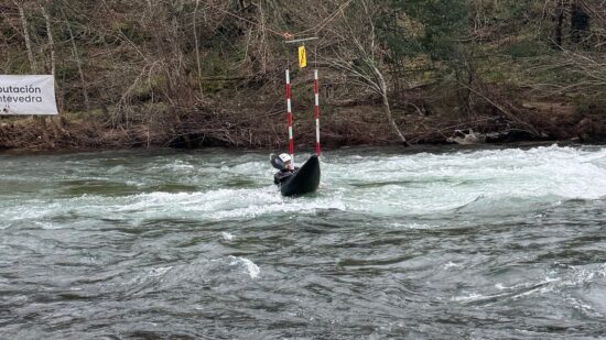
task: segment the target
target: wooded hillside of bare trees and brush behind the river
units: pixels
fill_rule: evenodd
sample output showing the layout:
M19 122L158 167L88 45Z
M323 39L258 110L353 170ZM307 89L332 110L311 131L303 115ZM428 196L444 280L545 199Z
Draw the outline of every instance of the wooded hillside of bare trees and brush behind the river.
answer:
M329 144L606 135L598 0L7 0L0 74L53 73L61 117L0 147ZM310 67L299 69L306 42Z

